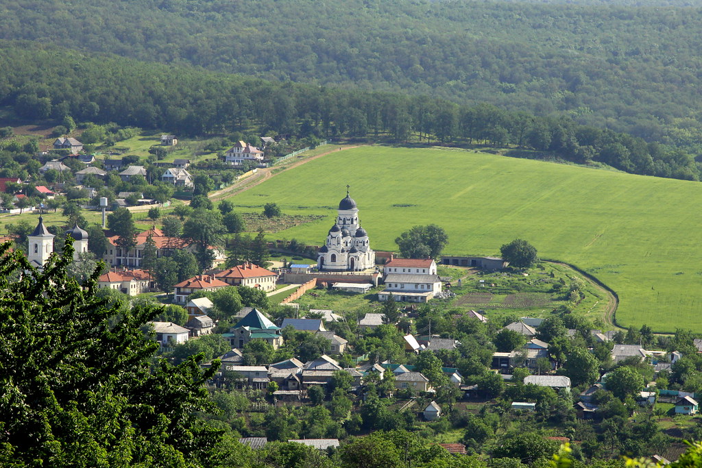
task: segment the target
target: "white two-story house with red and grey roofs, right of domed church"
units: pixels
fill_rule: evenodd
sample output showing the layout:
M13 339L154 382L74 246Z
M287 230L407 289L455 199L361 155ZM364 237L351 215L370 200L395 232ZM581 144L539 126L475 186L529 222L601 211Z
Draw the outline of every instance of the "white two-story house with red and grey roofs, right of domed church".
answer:
M431 258L397 258L384 267L385 290L378 300L385 301L392 294L397 301L428 302L442 291L437 264Z

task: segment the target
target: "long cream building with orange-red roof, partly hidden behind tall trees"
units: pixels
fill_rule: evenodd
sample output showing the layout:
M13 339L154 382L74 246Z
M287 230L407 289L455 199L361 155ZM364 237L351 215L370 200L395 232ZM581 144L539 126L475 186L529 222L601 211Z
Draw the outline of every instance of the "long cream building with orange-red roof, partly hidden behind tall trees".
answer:
M175 250L187 250L190 253L194 253L195 246L180 237L168 237L164 235L161 229L152 228L148 231L141 232L136 235L136 246L129 250L125 250L117 245L117 239L119 236L109 236L107 240L110 241L110 247L107 248L107 253L103 255L105 262L108 262L112 267L132 267L138 268L141 266L141 259L143 258L144 248L146 246L146 241L149 236L154 241L157 248L157 257L168 257ZM213 265L222 265L226 260L226 255L222 250L218 248L210 247L214 253Z

